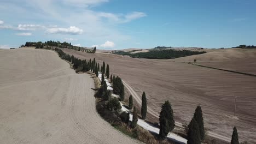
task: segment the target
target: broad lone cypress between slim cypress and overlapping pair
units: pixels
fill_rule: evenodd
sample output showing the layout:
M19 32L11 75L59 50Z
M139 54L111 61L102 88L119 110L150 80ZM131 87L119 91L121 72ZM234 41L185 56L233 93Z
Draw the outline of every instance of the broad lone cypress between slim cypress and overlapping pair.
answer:
M172 131L175 127L173 119L173 110L170 102L167 100L161 106L161 112L159 115L160 130L159 136L165 139L169 131Z

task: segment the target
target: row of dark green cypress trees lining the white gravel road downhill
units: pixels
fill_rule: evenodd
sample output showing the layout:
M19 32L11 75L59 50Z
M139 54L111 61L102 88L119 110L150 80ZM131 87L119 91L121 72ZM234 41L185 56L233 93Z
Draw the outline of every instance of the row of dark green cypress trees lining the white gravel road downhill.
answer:
M91 70L98 77L100 64L96 63L95 58L93 61L91 61L90 59L90 61L87 62L86 60L81 60L81 59L75 58L74 56L68 55L67 53L63 52L59 48L55 48L54 50L57 53L59 53L62 59L66 59L67 61L71 62L73 64L73 68L77 72ZM107 90L107 83L104 80L104 74L106 74L106 77L109 79L109 65L107 64L107 68L105 69L105 62L103 62L102 64L101 73L102 73L101 88L98 90L98 93L100 93L100 95L102 95L102 97L105 100L108 100L110 92ZM119 76L115 77L110 75L110 82L113 82L113 92L115 94L119 94L120 100L123 101L124 85L120 77ZM132 109L132 107L133 107L133 99L132 99L132 95L130 95L129 109ZM143 92L142 94L141 116L142 116L142 119L145 119L147 116L147 99L146 99L145 92ZM133 118L132 118L131 127L135 128L137 125L137 122L138 122L137 109L136 107L133 107ZM165 139L168 133L172 131L175 127L172 106L168 100L165 101L165 103L162 104L161 106L159 123L160 123L159 136L161 139ZM199 144L205 139L205 128L203 124L201 106L196 107L194 116L188 125L187 139L188 139L188 142L187 142L188 144ZM232 133L231 144L239 144L236 127L234 127L234 130Z

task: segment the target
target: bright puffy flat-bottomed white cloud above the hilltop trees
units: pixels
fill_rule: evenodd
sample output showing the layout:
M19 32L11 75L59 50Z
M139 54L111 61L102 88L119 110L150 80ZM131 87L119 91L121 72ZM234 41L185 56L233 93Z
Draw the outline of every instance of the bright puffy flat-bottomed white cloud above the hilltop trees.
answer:
M46 33L59 33L59 34L82 34L83 29L80 29L75 26L71 26L69 28L49 28Z

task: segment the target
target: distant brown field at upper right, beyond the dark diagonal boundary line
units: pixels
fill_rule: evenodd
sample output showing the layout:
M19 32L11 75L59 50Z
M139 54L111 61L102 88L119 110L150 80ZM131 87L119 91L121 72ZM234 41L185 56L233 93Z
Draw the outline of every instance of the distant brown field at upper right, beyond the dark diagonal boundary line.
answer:
M207 53L176 58L173 61L193 62L197 59L196 63L208 67L256 74L256 49L204 49L200 51L207 51Z

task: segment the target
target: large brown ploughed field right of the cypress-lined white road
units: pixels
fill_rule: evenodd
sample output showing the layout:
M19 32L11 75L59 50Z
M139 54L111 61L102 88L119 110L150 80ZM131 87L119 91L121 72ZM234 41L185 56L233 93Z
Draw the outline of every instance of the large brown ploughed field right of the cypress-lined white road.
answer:
M256 142L256 77L203 68L183 63L184 59L138 59L63 51L82 59L95 57L97 62L105 61L110 73L120 76L130 91L140 97L145 91L150 121L158 122L160 106L165 100L170 100L176 121L182 123L189 123L196 106L201 105L207 130L231 138L232 128L236 126L241 141ZM181 62L173 62L178 60ZM236 117L234 96L238 96Z

